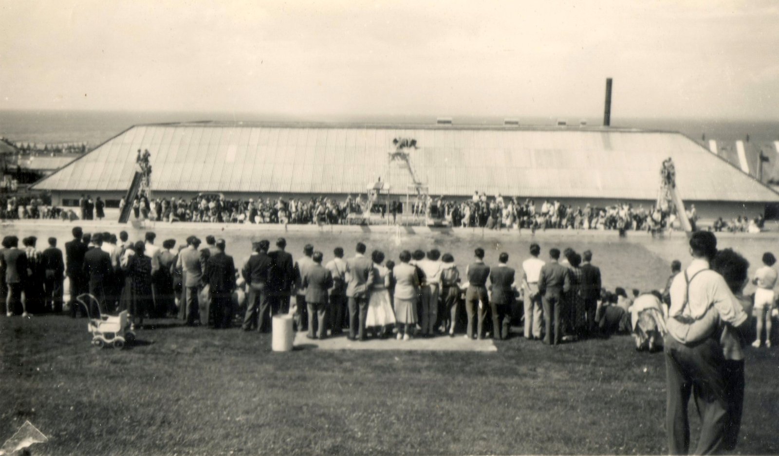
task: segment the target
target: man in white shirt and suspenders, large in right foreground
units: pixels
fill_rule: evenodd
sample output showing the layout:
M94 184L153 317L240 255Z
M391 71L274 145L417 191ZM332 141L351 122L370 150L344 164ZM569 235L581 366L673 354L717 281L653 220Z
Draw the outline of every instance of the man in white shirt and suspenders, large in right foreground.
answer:
M689 239L693 261L671 284L664 338L667 379L665 430L668 452L689 451L690 395L700 416L700 436L695 454L717 454L724 449L728 422L724 354L717 322L741 331L747 320L741 303L721 275L710 270L717 254L717 237L696 231Z

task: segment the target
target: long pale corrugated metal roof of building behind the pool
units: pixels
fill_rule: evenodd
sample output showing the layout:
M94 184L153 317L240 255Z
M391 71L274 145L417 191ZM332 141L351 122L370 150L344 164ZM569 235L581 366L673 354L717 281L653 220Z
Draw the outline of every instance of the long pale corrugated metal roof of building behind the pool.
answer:
M434 195L654 199L671 156L683 198L779 201L678 133L502 126L139 125L33 188L125 191L149 149L153 191L345 194L382 177L403 195L411 178L389 160L398 137L416 139L411 161Z

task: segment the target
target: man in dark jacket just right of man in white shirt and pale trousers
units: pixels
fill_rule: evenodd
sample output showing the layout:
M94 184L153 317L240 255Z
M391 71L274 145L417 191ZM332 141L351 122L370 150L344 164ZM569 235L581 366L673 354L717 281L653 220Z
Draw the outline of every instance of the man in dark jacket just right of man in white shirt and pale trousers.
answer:
M562 296L568 293L571 288L568 268L560 265L557 261L560 259L559 249L553 248L549 251L552 260L541 268L541 275L538 277L538 293L541 293L541 300L544 303L544 320L546 321L546 334L544 343L547 345L557 345L560 343L560 307L562 305ZM552 335L552 321L554 320L554 335Z

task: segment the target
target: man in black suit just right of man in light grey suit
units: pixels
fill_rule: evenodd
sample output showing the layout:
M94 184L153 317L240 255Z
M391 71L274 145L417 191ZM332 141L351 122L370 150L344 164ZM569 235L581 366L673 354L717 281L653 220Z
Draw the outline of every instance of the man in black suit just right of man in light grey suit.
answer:
M231 317L231 295L235 289L235 263L224 253L224 239L217 240L217 253L210 255L203 274L210 287L213 307L213 328L229 328Z

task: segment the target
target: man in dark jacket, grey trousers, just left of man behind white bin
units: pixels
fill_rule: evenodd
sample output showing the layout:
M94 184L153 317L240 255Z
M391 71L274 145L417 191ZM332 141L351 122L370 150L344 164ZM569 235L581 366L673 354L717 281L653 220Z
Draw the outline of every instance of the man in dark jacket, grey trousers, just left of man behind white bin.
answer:
M246 281L249 298L246 301L246 314L243 330L251 331L257 328L260 332L270 331L270 307L268 305L268 275L270 274L270 242L260 240L252 242L254 250L246 260L241 274Z

